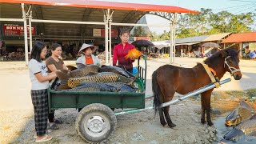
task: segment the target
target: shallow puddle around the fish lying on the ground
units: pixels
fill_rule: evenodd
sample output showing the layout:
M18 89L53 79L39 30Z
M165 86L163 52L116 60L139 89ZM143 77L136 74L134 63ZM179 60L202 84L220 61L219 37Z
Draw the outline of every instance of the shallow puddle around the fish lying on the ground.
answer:
M227 113L229 114L229 113ZM227 115L226 114L226 115ZM232 127L226 127L225 126L225 119L226 117L218 117L214 120L214 126L217 128L217 136L218 136L218 142L223 138L223 136L232 130ZM229 142L228 144L256 144L256 137L250 139L243 140L242 142Z

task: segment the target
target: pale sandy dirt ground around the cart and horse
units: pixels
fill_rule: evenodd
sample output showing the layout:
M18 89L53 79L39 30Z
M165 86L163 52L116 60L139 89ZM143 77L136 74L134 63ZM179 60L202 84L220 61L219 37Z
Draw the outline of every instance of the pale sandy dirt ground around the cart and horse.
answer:
M151 92L151 74L159 66L169 62L169 59L148 61L146 94ZM192 67L201 58L175 58L180 66ZM67 65L74 61L66 62ZM34 142L33 106L30 98L30 79L24 62L0 62L0 143ZM242 60L241 81L234 81L223 85L218 90L246 90L255 88L256 62ZM225 78L230 78L226 74ZM217 90L217 91L218 91ZM146 102L152 106L152 100ZM180 102L170 108L170 117L177 125L176 129L162 127L158 114L154 118L153 110L146 110L136 114L118 115L118 125L115 134L107 143L212 143L216 140L216 129L200 123L201 106L198 101L190 99ZM60 130L50 131L54 136L51 143L83 143L74 130L77 110L56 110L58 118L64 124Z

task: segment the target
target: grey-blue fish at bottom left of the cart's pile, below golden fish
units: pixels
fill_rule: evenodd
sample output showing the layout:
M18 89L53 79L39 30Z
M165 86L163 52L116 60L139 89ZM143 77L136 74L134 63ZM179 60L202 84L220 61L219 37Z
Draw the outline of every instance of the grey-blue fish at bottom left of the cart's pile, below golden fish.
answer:
M118 92L120 89L114 86L108 86L102 82L82 82L79 86L73 89L63 91L111 91Z

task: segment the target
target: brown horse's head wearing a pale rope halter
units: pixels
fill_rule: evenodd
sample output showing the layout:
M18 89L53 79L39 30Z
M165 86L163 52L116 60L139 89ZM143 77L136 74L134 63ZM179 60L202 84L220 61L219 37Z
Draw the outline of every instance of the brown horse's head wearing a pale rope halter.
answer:
M224 69L234 77L235 80L242 78L242 73L239 68L239 52L240 50L224 49L221 50L222 57L224 58Z

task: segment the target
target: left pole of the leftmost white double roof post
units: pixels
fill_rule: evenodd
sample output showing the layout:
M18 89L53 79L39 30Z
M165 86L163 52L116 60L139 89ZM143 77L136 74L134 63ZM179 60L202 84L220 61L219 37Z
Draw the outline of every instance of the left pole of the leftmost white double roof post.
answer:
M24 21L24 42L25 42L25 61L26 61L26 66L29 64L29 55L28 55L28 46L27 46L27 27L26 27L26 12L24 8L24 3L21 4L22 6L22 18Z

